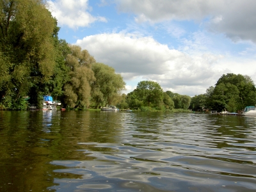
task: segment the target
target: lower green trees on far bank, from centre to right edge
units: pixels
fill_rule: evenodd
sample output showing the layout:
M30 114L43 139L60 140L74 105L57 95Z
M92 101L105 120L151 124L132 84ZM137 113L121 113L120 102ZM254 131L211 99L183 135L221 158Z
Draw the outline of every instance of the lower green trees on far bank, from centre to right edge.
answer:
M249 76L223 74L215 86L210 86L205 94L195 95L195 97L170 91L163 92L158 83L141 81L133 92L122 96L120 107L142 111L191 109L237 112L255 104L256 88Z

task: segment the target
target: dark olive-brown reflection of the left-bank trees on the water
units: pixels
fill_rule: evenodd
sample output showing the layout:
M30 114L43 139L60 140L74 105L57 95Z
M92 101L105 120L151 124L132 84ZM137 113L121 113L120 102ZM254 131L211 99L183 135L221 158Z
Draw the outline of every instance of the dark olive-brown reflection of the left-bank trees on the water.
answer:
M49 162L95 158L85 156L79 150L86 147L77 145L79 142L93 142L97 140L95 136L100 137L92 133L93 129L90 128L94 122L90 120L93 118L90 112L4 111L2 115L0 163L3 166L0 166L0 186L6 187L4 191L42 191L54 186L56 178L80 178L81 175L71 173L63 173L62 176L54 173L63 166ZM99 119L95 122L99 122ZM111 131L107 132L110 134Z

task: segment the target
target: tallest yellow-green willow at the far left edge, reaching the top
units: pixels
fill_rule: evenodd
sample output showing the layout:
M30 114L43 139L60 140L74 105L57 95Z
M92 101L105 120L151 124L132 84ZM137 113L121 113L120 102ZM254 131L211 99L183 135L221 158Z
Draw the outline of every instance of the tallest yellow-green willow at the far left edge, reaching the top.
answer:
M3 0L0 9L0 103L14 104L52 76L56 20L41 0Z

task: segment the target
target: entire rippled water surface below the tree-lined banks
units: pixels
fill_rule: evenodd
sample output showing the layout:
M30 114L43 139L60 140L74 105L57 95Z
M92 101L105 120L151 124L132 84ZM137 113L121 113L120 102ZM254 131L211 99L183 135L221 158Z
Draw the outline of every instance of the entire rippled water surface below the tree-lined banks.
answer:
M0 191L256 191L256 118L0 111Z

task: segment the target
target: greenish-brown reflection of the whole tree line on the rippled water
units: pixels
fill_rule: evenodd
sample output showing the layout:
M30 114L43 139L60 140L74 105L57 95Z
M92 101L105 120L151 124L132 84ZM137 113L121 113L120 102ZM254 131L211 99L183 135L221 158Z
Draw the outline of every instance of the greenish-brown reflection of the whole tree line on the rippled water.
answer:
M193 160L200 156L252 165L255 124L255 118L190 113L0 111L0 186L6 187L4 191L46 191L56 185L55 179L83 176L58 172L63 166L51 164L54 160L65 165L66 161L98 158L91 162L101 164L102 159L95 154L111 157L127 152L131 156L129 150L137 154L138 148L146 150L138 152L141 156L132 157L132 161L152 162L154 166L160 162L156 150L161 158L174 155ZM245 145L248 142L252 145ZM129 150L120 147L122 143L131 145ZM245 144L236 145L240 143ZM145 168L141 173L151 173L147 171Z

